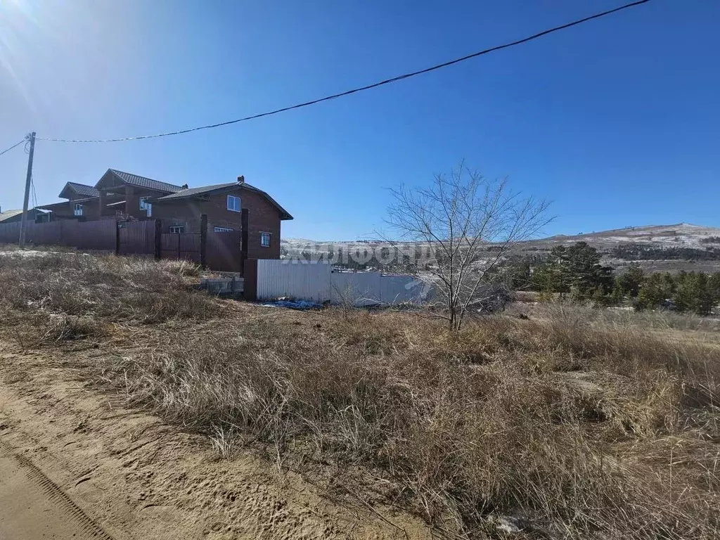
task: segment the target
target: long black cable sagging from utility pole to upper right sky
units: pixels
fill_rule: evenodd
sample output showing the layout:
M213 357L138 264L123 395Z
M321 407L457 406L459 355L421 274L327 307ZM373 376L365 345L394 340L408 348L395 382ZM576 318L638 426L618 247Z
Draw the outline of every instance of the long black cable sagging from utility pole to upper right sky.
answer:
M330 99L336 99L338 97L349 96L350 94L356 94L357 92L377 88L378 86L384 86L385 84L391 84L391 83L395 83L397 81L402 81L405 78L422 75L423 73L430 73L431 71L435 71L435 70L441 69L441 68L446 68L447 66L452 66L453 64L464 62L465 60L470 60L471 58L476 58L477 56L482 56L482 55L486 55L488 53L494 53L495 51L498 51L498 50L507 49L510 47L514 47L516 45L521 45L522 43L536 40L539 37L543 37L548 34L552 34L553 32L558 32L559 30L565 30L567 28L577 26L577 24L582 24L584 22L588 22L593 19L600 19L600 17L606 17L613 13L621 12L624 9L629 9L631 7L639 6L641 4L647 4L647 2L649 2L649 1L650 0L634 1L634 2L631 2L630 4L625 4L624 6L619 6L614 9L609 9L606 12L601 12L601 13L597 13L594 15L590 15L590 17L585 17L584 19L578 19L573 22L568 22L567 24L562 24L561 26L550 28L549 30L544 30L543 32L538 32L537 34L534 34L534 35L531 35L528 37L523 37L523 39L521 39L521 40L508 42L503 45L496 45L495 47L485 49L485 50L480 50L477 53L472 53L467 56L463 56L462 58L456 58L455 60L449 60L448 62L437 64L436 66L432 66L430 68L421 69L420 71L412 71L410 73L405 73L404 75L400 75L397 77L387 78L384 81L379 81L377 83L368 84L367 86L360 86L359 88L347 90L347 91L341 92L340 94L333 94L331 96L325 96L325 97L321 97L319 99L313 99L310 102L299 103L299 104L291 105L289 107L282 107L282 109L274 109L274 110L268 111L268 112L261 112L260 114L253 114L252 116L237 118L235 120L228 120L226 122L218 122L217 124L203 125L203 126L199 126L199 127L190 127L186 130L171 131L171 132L165 132L165 133L156 133L155 135L140 135L138 137L125 137L125 138L119 138L119 139L77 140L77 139L51 139L51 138L42 138L42 137L37 137L37 139L51 140L56 143L119 143L119 142L125 141L125 140L152 139L152 138L158 138L158 137L168 137L169 135L181 135L183 133L189 133L192 131L209 130L213 127L221 127L221 126L230 125L230 124L237 124L238 122L246 122L247 120L256 120L257 118L271 116L272 114L278 114L280 112L286 112L286 111L290 111L292 109L300 109L302 107L308 107L310 105L314 105L314 104L317 104L320 102L328 102L328 101L330 101Z

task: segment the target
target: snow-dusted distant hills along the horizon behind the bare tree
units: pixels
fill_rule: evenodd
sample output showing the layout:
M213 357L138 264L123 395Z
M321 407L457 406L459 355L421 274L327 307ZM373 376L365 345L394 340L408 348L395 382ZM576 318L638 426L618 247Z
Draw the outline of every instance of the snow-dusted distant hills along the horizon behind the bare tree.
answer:
M648 271L720 271L720 228L677 223L675 225L644 225L577 235L556 235L528 240L518 247L518 255L543 258L556 246L572 246L587 242L603 253L603 261L622 269L631 263ZM301 238L284 238L284 253L328 251L334 246L354 251L357 248L387 245L376 240L315 242Z

